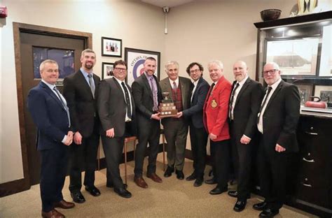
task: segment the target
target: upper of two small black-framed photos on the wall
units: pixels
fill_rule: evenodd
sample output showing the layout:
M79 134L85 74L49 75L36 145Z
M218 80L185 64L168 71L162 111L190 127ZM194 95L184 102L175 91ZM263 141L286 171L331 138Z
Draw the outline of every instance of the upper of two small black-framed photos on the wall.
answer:
M122 57L122 39L102 37L102 56Z

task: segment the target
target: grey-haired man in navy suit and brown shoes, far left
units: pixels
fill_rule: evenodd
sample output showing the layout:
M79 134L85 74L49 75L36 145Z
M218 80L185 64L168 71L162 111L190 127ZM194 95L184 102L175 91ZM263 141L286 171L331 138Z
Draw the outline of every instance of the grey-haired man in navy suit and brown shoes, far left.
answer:
M46 60L39 67L41 82L30 90L27 106L37 126L37 150L41 154L42 217L64 217L54 208L74 208L64 201L62 188L67 173L67 151L72 143L67 102L55 87L59 78L56 61Z

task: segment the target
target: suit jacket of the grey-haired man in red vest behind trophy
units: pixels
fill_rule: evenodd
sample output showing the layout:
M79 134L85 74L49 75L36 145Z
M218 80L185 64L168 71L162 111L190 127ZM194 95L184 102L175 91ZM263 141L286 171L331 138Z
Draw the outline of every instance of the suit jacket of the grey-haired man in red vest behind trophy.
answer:
M191 90L193 90L193 83L188 78L179 76L179 85L181 86L182 108L186 110L191 106ZM162 92L169 92L170 98L173 99L172 85L170 79L167 77L160 81L160 88ZM170 122L172 117L163 118L161 123L163 125Z

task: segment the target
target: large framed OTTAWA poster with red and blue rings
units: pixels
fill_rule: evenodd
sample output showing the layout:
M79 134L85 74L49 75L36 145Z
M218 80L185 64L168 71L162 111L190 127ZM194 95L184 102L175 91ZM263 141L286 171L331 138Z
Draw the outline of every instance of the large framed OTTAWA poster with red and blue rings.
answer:
M127 83L132 85L132 82L144 73L144 61L147 57L153 57L157 61L155 69L155 76L160 80L160 52L153 52L148 50L140 50L136 48L125 48L125 61L127 62Z

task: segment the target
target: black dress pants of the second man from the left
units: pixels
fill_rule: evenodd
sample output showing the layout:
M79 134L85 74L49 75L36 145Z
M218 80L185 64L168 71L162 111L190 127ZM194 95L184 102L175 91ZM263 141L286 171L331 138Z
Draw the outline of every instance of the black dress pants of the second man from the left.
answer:
M92 187L95 185L95 170L97 168L97 151L99 145L99 134L92 133L87 138L82 138L82 144L72 143L69 151L69 191L80 191L82 187L82 170L85 170L84 185Z

